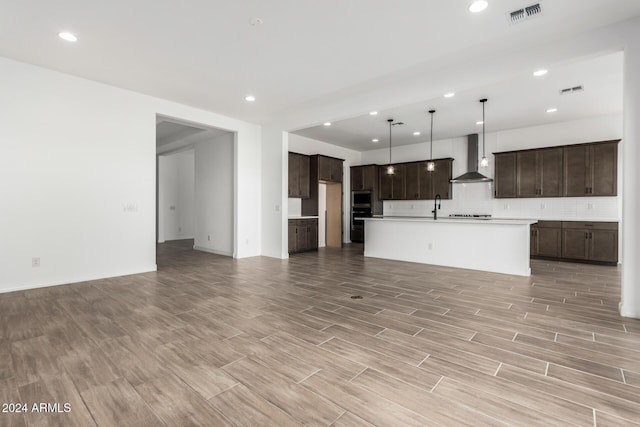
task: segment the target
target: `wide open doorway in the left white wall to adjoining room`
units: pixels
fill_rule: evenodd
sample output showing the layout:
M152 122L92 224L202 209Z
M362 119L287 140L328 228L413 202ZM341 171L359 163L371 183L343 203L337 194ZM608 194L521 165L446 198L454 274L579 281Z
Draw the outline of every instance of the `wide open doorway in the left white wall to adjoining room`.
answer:
M234 145L233 132L156 117L158 245L233 256Z

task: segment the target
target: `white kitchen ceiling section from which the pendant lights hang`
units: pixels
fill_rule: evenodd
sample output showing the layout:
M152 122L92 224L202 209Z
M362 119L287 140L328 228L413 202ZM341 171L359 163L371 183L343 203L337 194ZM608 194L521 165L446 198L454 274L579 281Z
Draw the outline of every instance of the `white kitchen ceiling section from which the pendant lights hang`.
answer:
M405 123L394 126L394 146L429 141L430 116L435 109L433 139L446 139L477 133L482 126L482 105L485 105L486 132L536 126L585 117L622 113L623 54L617 52L571 64L549 66L548 74L534 77L528 70L509 80L491 86L477 87L456 93L453 98L434 99L368 113L357 117L301 129L293 133L325 141L357 151L376 150L389 144L387 119ZM583 91L561 95L564 88L582 85ZM549 114L548 108L558 111ZM420 135L413 135L414 132ZM379 139L377 143L372 139Z

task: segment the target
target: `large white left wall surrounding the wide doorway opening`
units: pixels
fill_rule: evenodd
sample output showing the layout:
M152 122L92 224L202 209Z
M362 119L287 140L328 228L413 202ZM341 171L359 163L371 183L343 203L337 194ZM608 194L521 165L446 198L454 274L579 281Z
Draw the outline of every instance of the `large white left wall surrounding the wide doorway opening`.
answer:
M236 256L260 254L259 126L6 58L0 75L0 291L156 269L156 114L236 132Z

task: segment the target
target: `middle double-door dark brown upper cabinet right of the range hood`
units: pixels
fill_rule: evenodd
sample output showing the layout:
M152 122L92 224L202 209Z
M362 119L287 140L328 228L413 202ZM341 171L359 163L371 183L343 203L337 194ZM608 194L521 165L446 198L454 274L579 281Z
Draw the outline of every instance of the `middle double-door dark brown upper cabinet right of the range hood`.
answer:
M562 147L518 151L517 197L560 197L562 159Z

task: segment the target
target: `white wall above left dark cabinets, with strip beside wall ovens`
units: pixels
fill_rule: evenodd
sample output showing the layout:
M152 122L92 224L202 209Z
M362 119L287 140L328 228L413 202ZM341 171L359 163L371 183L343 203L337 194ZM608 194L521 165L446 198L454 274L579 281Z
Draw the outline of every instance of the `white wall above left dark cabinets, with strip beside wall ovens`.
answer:
M342 236L343 241L348 243L351 241L351 224L350 224L350 211L351 211L351 169L352 165L361 164L361 153L355 150L349 150L348 148L338 147L337 145L327 144L326 142L318 141L304 136L289 134L289 149L300 154L322 154L325 156L336 157L338 159L344 159L342 163L342 227L344 234Z

